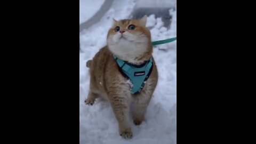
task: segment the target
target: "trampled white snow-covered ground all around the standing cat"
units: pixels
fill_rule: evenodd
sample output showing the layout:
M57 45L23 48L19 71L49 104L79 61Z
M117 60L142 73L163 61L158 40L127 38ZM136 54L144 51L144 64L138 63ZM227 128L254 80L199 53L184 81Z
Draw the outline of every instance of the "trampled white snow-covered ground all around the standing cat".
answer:
M82 1L82 0L81 0ZM90 4L92 7L92 3ZM122 6L120 6L122 5ZM109 103L97 99L93 106L85 105L89 90L89 71L86 61L92 59L98 50L106 45L107 31L113 20L129 18L135 3L132 0L114 1L111 9L94 26L82 31L80 43L80 97L79 130L80 143L176 143L176 41L154 47L159 80L154 97L148 106L146 121L139 126L132 123L133 138L122 139L118 133L117 120ZM89 9L90 10L90 9ZM84 12L85 14L86 12ZM176 36L176 11L171 13L171 29L163 27L161 18L149 15L147 26L153 27L152 41ZM83 17L81 15L80 17ZM89 16L86 16L89 17Z

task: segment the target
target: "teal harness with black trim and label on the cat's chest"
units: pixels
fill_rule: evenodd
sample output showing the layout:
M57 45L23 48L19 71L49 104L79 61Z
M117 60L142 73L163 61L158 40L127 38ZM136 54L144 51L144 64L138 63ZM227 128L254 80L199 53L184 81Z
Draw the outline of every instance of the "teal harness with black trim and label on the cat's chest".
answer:
M132 65L114 57L120 73L132 83L132 94L140 93L153 69L152 57L141 65Z

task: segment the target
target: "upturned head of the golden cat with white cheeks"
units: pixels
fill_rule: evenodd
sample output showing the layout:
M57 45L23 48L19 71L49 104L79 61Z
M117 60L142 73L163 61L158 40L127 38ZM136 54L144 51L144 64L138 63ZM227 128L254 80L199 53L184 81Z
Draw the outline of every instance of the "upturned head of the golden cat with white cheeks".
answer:
M148 60L152 54L150 31L146 28L147 15L141 19L116 21L108 31L107 45L117 57L131 63Z

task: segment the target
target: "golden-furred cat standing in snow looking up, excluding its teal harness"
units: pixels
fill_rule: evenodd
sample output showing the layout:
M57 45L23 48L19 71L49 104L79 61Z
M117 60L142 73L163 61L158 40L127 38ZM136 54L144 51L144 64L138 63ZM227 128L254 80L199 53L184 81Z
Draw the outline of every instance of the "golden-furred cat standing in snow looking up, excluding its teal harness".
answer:
M147 15L141 19L113 19L113 26L107 35L107 45L92 60L86 62L90 69L90 90L85 103L93 105L98 97L107 100L114 111L119 134L123 138L132 138L130 112L135 125L140 125L145 120L144 116L158 81L151 34L146 28L146 21ZM149 63L150 58L151 73L143 88L132 94L132 82L127 81L127 77L122 74L116 59L129 67L136 67L145 65L145 62ZM143 74L145 75L138 73Z

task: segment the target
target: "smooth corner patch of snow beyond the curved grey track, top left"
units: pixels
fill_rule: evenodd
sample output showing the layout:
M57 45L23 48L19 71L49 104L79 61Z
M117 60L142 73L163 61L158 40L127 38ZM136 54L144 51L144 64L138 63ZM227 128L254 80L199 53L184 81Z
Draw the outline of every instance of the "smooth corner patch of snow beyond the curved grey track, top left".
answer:
M79 0L79 23L89 20L104 2L105 0Z

